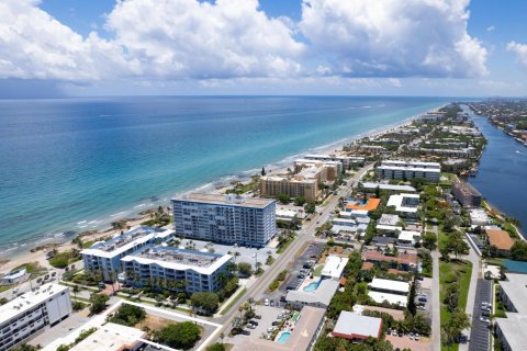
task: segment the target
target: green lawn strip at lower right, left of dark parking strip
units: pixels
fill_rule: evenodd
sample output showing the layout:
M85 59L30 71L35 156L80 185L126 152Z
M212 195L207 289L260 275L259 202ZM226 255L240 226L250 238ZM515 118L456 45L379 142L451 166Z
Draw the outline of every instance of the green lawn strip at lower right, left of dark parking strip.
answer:
M442 304L445 299L445 294L447 291L447 285L457 281L456 273L459 272L459 288L460 288L460 299L458 307L461 310L464 310L467 307L467 298L469 294L470 286L470 276L472 274L472 263L469 261L460 262L439 262L439 284L440 292L439 298L441 302L441 325L446 324L450 318L450 312ZM450 347L450 351L458 350L459 344L453 344ZM448 351L448 348L441 344L441 350Z

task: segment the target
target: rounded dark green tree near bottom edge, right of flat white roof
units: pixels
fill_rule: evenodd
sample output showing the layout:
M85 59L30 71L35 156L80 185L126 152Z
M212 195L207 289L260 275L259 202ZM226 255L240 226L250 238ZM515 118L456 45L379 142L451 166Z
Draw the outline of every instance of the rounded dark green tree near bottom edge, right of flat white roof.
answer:
M192 321L171 324L155 333L158 342L175 349L190 349L200 339L201 329Z

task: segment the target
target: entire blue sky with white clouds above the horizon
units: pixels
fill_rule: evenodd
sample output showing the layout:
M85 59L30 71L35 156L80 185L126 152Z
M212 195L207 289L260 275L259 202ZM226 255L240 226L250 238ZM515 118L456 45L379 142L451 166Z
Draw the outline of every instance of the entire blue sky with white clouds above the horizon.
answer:
M520 0L5 0L0 98L527 95Z

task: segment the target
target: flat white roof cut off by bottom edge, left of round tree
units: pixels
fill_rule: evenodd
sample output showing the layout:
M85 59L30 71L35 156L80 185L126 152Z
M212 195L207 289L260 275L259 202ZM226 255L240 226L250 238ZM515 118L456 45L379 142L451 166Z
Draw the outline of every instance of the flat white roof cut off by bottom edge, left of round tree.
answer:
M123 350L123 347L132 349L133 344L144 336L145 332L141 329L106 322L70 350L120 351Z

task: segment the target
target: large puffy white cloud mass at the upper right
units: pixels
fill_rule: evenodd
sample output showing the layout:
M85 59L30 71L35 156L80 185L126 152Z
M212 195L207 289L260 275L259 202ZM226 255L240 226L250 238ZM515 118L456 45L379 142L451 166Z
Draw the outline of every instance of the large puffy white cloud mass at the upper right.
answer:
M350 77L476 77L486 49L467 34L469 0L303 0L300 29ZM327 53L327 57L326 57Z

